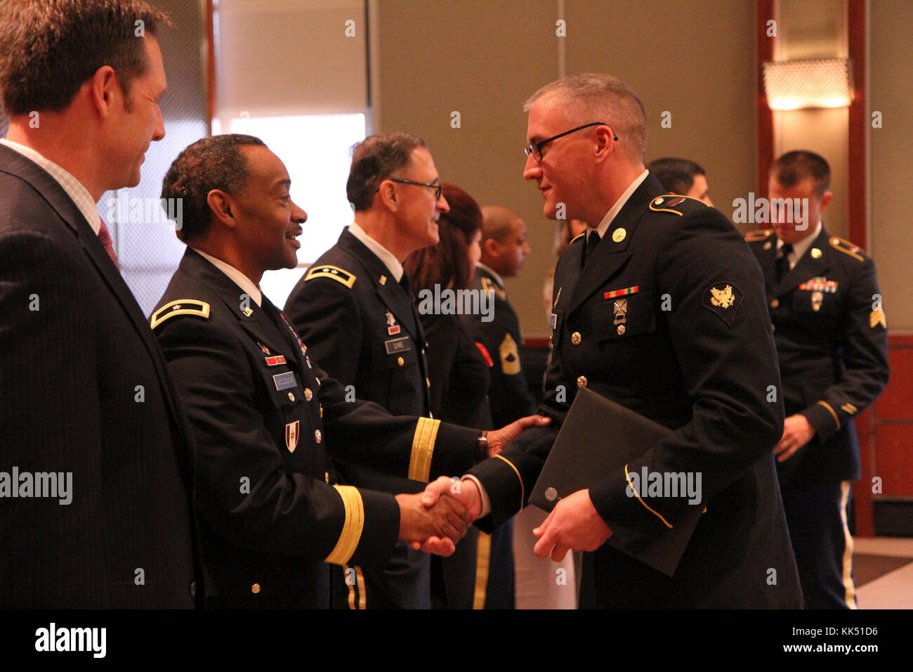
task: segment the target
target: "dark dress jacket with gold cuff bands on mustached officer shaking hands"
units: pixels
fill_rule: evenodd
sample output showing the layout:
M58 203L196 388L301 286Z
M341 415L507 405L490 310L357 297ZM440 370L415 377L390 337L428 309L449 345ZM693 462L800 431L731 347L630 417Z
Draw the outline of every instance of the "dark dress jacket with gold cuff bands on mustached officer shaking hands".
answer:
M405 473L413 447L438 475L427 419L394 417L345 389L278 309L188 249L152 314L199 451L207 592L225 606L329 605L329 568L378 564L399 531L394 496L340 486L331 457ZM444 441L474 432L436 422Z

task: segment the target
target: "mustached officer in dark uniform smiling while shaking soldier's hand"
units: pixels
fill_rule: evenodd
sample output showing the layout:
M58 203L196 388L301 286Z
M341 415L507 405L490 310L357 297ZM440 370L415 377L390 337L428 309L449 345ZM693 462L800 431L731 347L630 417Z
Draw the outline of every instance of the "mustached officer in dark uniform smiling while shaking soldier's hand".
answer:
M453 512L431 528L435 516L415 503L342 485L331 457L428 477L477 450L473 430L348 402L260 295L264 269L295 262L306 216L288 190L282 163L249 136L191 145L165 177L163 197L187 201L180 235L199 251L184 254L152 329L194 426L210 606L328 606L325 563L383 566L396 539L439 536L446 525L458 539ZM435 451L438 442L450 449ZM356 601L363 580L351 569L345 597Z

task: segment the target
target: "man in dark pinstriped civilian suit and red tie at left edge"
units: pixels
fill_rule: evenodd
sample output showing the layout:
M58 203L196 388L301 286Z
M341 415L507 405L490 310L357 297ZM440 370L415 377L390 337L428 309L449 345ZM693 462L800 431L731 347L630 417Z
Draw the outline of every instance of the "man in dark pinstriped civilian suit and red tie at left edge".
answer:
M0 13L0 470L72 484L65 506L24 496L25 481L16 498L0 487L4 607L202 596L186 421L95 209L138 184L164 135L166 20L134 0L7 0Z

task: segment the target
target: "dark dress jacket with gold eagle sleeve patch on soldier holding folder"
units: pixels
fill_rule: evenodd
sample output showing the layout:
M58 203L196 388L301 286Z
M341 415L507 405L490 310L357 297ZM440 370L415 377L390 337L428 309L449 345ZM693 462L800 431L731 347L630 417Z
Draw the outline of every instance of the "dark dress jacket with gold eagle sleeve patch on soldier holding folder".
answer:
M526 503L576 390L588 387L676 430L590 486L613 536L584 567L582 603L602 607L800 607L773 465L782 434L776 353L758 264L739 231L654 176L625 203L582 267L585 240L555 272L546 397L533 428L471 470L498 524ZM611 450L612 437L604 437ZM630 473L701 476L700 503L638 496ZM627 472L627 473L626 473ZM519 476L519 477L518 477ZM673 578L638 560L688 507L706 507Z

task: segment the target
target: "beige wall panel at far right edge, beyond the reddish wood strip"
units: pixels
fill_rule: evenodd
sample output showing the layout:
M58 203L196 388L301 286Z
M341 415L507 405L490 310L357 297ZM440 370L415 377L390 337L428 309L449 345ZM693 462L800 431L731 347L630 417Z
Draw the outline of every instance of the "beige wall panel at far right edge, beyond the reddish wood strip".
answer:
M869 14L870 88L872 112L882 113L882 128L869 131L870 204L869 252L875 258L878 281L885 296L887 325L892 333L913 332L913 217L908 204L913 165L913 60L910 29L913 3L874 0Z

